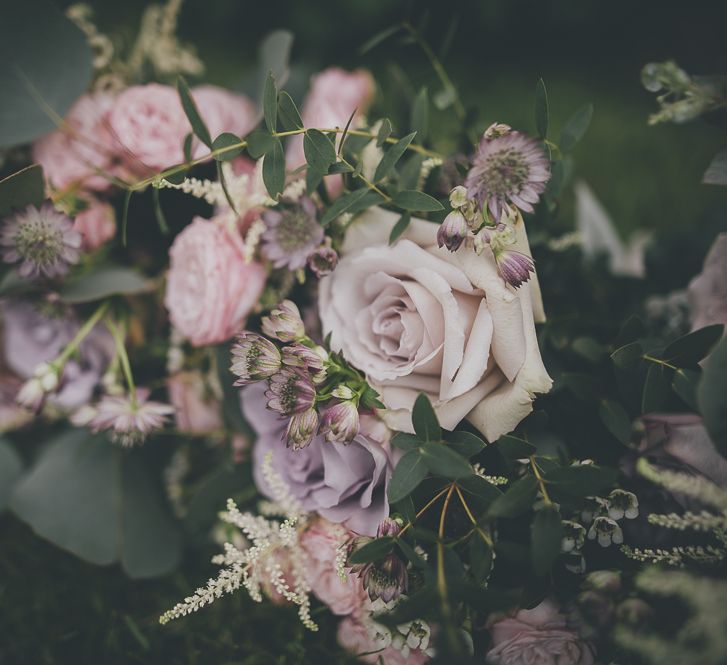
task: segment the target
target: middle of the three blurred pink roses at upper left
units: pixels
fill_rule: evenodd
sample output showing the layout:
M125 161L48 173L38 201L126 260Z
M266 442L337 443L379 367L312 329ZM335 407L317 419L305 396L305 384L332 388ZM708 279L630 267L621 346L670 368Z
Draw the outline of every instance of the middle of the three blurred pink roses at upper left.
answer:
M129 168L140 173L184 161L184 137L192 131L177 91L158 83L124 90L109 113L109 127Z

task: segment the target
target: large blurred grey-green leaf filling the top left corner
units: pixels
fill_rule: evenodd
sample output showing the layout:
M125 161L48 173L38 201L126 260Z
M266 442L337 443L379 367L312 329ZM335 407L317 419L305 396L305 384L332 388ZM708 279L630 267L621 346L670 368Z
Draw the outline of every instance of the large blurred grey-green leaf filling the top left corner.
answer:
M56 3L23 0L3 7L0 148L10 148L56 129L58 118L88 90L93 54Z

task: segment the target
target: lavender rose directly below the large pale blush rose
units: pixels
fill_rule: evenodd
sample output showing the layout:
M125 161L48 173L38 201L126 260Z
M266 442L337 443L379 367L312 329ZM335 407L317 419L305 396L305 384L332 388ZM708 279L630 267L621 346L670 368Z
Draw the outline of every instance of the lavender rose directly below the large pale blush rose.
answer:
M326 443L313 437L303 450L287 448L283 438L287 421L265 409L265 387L256 383L242 390L242 410L257 434L253 447L253 475L258 489L272 497L264 475L266 455L273 469L306 510L345 523L357 533L373 536L389 514L386 488L395 458L389 431L373 417L361 419L361 432L348 445Z

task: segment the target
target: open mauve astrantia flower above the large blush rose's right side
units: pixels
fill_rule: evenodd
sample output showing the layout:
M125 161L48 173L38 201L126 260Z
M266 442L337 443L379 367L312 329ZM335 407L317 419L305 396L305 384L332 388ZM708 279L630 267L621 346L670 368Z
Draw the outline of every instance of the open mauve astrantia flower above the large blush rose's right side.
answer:
M549 178L550 164L537 141L509 132L482 138L465 187L469 197L499 221L510 204L533 212Z

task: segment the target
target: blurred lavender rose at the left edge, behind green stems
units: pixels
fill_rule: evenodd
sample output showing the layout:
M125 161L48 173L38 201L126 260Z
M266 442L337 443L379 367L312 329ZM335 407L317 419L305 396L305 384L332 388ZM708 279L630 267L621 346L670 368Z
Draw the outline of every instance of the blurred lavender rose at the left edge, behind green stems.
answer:
M5 363L23 379L34 376L41 363L56 358L79 329L69 310L46 313L26 302L6 301L1 311ZM86 404L114 350L109 332L97 325L81 342L78 353L65 363L60 388L49 401L69 410Z

